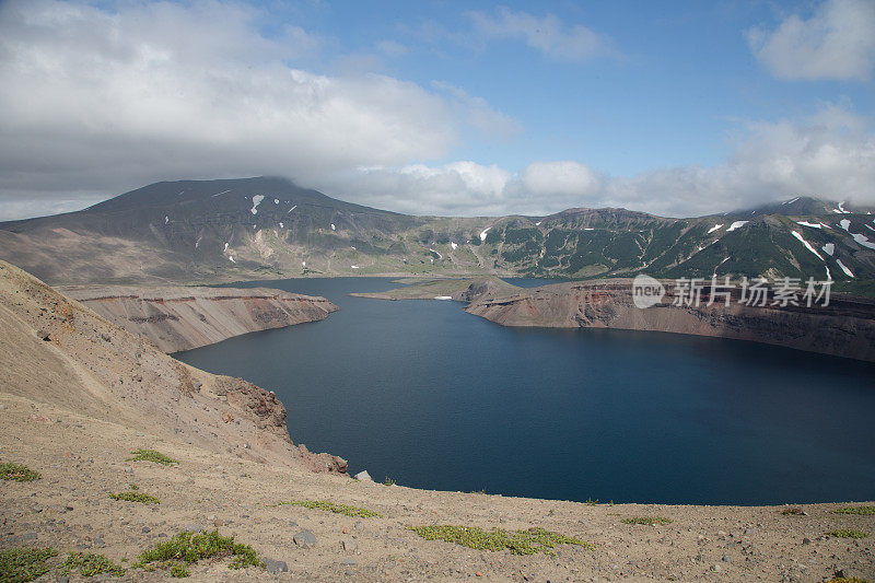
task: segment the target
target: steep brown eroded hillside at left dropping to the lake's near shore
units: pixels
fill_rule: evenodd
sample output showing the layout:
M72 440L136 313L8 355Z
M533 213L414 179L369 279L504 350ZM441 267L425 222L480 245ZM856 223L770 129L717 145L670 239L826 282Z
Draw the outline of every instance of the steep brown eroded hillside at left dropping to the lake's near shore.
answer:
M208 451L320 473L347 470L346 460L292 443L285 407L272 393L184 364L4 261L0 383L5 393Z

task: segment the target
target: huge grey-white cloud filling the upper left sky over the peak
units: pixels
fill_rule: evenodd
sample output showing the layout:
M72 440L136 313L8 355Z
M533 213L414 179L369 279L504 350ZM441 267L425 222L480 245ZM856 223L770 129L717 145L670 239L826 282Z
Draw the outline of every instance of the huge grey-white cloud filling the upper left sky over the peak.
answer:
M212 0L0 3L0 199L186 177L307 183L443 158L471 123L514 124L477 97L305 70L294 63L323 40L295 26L265 36L264 18Z

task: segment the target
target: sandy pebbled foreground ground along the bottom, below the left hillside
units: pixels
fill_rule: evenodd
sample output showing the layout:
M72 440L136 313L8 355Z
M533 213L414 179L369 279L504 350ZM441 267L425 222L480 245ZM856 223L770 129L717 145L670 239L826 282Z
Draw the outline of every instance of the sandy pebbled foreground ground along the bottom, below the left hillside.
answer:
M837 569L859 576L874 573L872 538L824 534L836 528L875 534L875 517L835 514L836 504L805 505L807 515L783 515L781 508L770 506L587 505L386 487L242 460L9 394L0 394L0 404L5 406L0 411L2 458L43 474L33 482L3 483L2 547L27 543L63 551L90 549L129 564L149 545L164 540L162 535L218 527L289 568L271 574L205 564L192 569L192 579L200 581L411 581L478 573L490 581L820 581ZM126 462L136 447L158 448L179 464ZM161 504L108 498L128 483L159 497ZM292 500L348 503L383 517L276 505ZM642 515L674 522L620 522ZM557 557L518 557L428 541L407 530L428 524L539 526L595 546L560 546ZM293 543L302 529L316 536L315 547ZM343 544L355 550L345 550ZM125 579L162 575L136 570Z

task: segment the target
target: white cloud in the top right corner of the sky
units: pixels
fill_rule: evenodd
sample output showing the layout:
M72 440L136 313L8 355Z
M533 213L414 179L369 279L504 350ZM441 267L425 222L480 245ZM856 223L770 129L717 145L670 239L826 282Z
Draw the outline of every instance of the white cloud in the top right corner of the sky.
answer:
M808 20L793 14L772 32L751 28L748 42L780 79L866 80L875 65L875 2L827 0Z

